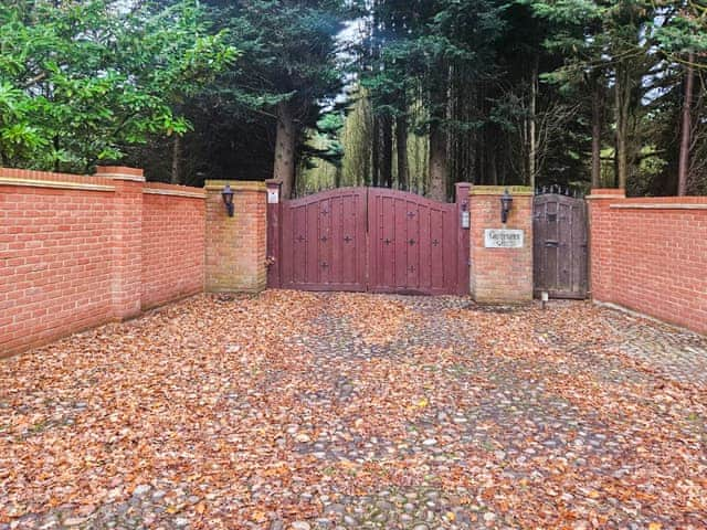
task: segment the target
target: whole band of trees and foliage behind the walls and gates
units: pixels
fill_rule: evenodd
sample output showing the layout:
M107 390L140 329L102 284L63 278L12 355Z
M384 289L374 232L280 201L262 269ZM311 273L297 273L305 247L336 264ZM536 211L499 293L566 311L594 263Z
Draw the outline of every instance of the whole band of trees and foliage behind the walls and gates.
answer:
M0 165L707 194L707 2L6 0Z

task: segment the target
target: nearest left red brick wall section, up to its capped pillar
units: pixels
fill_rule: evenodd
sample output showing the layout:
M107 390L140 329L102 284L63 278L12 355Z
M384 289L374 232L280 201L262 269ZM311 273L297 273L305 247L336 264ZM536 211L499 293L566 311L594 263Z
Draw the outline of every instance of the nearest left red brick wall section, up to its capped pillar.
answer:
M0 169L0 356L113 315L115 188Z

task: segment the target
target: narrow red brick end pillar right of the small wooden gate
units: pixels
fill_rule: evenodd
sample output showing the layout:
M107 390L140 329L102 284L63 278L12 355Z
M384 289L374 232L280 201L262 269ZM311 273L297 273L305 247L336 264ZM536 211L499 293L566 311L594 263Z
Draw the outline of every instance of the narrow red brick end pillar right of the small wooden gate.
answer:
M613 265L611 202L625 199L626 192L615 188L593 188L587 197L589 209L589 295L595 301L611 301Z

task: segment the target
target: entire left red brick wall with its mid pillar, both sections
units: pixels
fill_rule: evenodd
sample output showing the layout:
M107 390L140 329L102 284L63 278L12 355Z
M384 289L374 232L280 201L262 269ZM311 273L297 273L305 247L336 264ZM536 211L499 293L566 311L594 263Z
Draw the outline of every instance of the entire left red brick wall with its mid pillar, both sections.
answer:
M0 168L0 357L202 290L203 190L144 180Z

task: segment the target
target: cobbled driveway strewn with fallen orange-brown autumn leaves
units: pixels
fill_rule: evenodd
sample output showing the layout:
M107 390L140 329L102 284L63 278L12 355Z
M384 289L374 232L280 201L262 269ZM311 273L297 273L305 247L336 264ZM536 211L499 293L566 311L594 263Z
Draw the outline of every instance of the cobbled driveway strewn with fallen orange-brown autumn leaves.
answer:
M0 361L0 529L707 528L706 374L584 303L200 296Z

